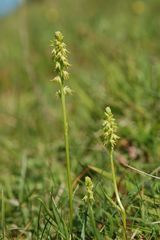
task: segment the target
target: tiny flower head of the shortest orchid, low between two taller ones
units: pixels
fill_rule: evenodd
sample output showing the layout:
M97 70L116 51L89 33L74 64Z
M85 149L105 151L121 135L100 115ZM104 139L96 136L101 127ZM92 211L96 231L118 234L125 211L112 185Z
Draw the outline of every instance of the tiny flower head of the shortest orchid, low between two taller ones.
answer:
M88 203L94 202L93 197L93 183L90 177L85 177L85 186L86 186L86 195L84 196L83 200Z

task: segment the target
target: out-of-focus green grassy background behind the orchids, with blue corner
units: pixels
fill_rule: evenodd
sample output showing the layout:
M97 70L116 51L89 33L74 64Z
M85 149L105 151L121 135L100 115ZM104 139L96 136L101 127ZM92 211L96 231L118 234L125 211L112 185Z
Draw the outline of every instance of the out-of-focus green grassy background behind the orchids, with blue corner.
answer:
M48 166L63 178L60 101L55 97L50 40L62 31L70 51L68 97L72 165L104 165L97 140L110 105L119 151L151 171L160 157L159 0L0 1L0 183L42 189ZM40 177L41 176L41 177ZM9 179L9 180L8 180ZM33 184L34 182L34 184Z

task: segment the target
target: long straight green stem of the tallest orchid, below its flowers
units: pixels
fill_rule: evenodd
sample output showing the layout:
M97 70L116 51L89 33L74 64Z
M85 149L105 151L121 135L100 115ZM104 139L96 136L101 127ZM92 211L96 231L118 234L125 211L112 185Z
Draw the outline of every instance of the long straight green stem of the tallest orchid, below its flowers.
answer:
M70 164L70 153L69 153L69 139L68 139L68 121L66 112L66 101L63 83L60 82L61 91L61 102L63 110L63 124L64 124L64 139L65 139L65 150L66 150L66 165L67 165L67 184L68 184L68 194L69 194L69 214L70 214L70 230L72 231L72 221L73 221L73 201L72 201L72 182L71 182L71 164Z

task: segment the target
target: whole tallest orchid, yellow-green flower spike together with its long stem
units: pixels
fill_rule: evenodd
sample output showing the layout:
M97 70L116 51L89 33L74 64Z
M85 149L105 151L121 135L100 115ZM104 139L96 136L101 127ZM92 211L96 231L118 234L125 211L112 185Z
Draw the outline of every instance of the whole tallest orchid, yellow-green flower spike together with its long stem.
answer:
M64 141L65 141L65 151L66 151L66 175L67 175L67 185L68 185L68 198L69 198L69 223L70 232L72 232L73 225L73 189L72 189L72 178L71 178L71 161L70 161L70 148L69 148L69 137L68 137L68 116L66 110L66 94L71 94L72 90L65 86L65 81L69 78L68 68L70 64L68 63L68 51L66 49L66 44L63 41L63 35L61 32L55 32L55 39L52 42L52 56L54 63L54 70L56 72L53 82L59 84L59 89L56 93L57 97L60 97L62 103L62 113L63 113L63 127L64 127Z

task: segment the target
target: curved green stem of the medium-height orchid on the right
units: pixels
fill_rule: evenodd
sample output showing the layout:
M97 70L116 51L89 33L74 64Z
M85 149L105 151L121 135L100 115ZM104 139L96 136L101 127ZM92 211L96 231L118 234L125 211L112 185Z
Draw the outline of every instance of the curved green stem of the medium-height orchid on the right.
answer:
M115 167L114 167L114 162L113 162L113 148L111 148L111 151L110 151L110 160L111 160L111 170L112 170L114 191L115 191L115 194L116 194L117 203L118 203L118 205L121 209L121 216L122 216L122 222L123 222L123 239L127 240L127 235L126 235L126 212L125 212L125 209L122 205L121 199L119 197L119 192L118 192L118 188L117 188Z

